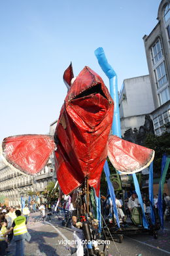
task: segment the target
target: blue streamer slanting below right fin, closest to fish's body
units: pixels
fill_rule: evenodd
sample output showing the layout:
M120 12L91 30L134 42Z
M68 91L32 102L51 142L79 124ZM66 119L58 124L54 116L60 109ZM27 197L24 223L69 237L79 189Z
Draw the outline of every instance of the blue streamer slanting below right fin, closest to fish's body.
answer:
M114 194L114 187L112 186L112 182L110 181L110 171L109 171L109 165L108 165L107 161L105 161L104 171L105 171L105 175L107 177L107 185L109 188L110 198L112 200L112 208L114 211L114 215L116 216L116 222L118 224L118 227L120 228L120 221L118 219L118 210L116 207L116 197Z

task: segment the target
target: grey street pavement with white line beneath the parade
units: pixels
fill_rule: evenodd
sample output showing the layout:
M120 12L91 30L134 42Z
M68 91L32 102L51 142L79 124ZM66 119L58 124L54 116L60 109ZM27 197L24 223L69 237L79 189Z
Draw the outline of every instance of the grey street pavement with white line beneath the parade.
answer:
M51 219L46 218L45 223L43 223L40 213L31 213L27 224L31 241L29 243L25 242L25 256L70 256L68 244L73 241L73 231L71 228L62 226L61 221L57 215L52 215ZM108 255L170 255L169 238L170 223L165 222L165 230L158 232L158 240L145 233L124 236L122 244L110 240ZM9 246L11 255L14 253L14 247L15 245L12 242ZM103 245L99 245L99 247L101 250L103 249ZM75 255L73 254L73 256Z

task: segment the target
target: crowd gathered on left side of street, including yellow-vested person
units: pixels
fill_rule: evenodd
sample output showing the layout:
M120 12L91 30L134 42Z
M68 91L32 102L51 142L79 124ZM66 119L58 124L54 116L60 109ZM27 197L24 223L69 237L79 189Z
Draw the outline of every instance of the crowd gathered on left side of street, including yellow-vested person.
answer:
M29 214L32 212L40 211L44 221L46 217L46 210L49 212L54 211L55 204L51 203L31 203L21 207L7 207L0 203L0 256L6 256L9 244L15 242L15 255L24 256L24 241L31 239L27 231L27 223L29 221Z

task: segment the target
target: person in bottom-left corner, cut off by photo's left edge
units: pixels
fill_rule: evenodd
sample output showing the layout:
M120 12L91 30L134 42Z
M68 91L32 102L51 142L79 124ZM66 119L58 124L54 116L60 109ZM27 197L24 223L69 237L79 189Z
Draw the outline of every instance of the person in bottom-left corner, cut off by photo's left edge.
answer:
M7 232L7 223L5 221L1 221L0 223L0 255L1 256L6 255L6 249L8 247L7 235L5 236L6 232Z

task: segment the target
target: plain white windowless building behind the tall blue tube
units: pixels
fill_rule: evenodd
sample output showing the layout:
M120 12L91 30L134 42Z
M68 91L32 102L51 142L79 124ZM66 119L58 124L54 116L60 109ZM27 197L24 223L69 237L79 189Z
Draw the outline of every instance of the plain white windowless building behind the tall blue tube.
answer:
M122 137L128 129L144 124L145 115L154 110L149 75L125 79L119 96Z

